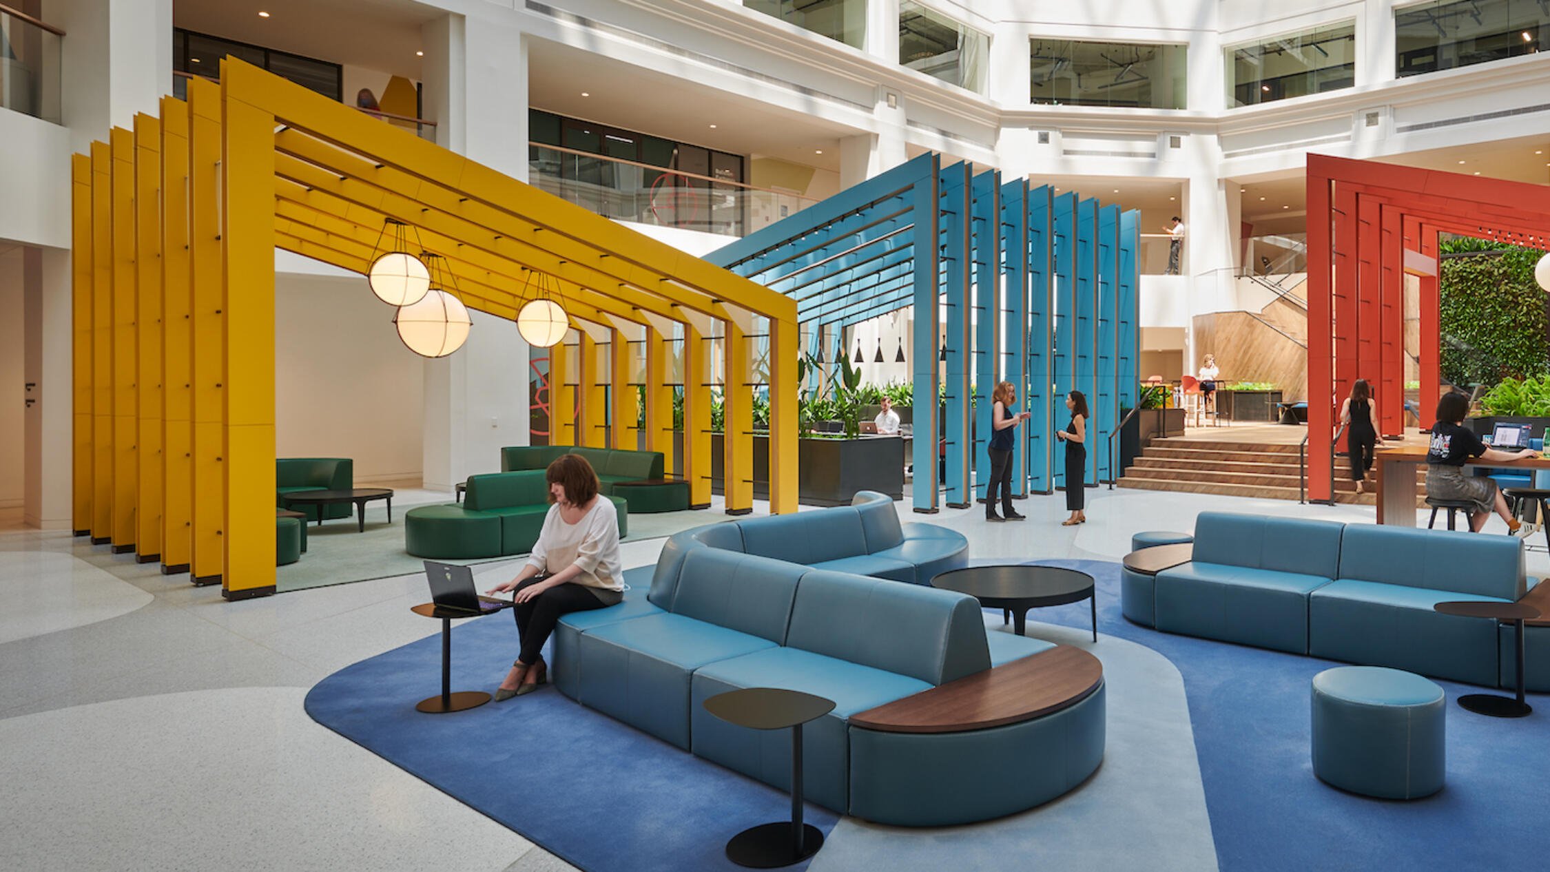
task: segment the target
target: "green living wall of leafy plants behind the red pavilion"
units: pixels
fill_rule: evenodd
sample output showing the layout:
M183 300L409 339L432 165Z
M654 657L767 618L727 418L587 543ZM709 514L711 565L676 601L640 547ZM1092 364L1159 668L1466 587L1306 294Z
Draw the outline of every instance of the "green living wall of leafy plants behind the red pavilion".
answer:
M1547 294L1534 283L1544 252L1469 237L1445 239L1442 252L1443 378L1469 387L1550 372Z

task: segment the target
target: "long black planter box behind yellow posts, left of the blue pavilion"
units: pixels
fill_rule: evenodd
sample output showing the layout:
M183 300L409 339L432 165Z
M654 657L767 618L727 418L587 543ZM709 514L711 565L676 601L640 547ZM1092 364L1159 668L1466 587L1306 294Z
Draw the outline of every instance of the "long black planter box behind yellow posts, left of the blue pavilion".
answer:
M677 457L684 434L673 434ZM710 434L710 489L722 488L722 435ZM797 502L851 505L856 491L879 491L904 499L904 440L899 437L803 438L797 441ZM770 440L753 437L753 499L769 499Z

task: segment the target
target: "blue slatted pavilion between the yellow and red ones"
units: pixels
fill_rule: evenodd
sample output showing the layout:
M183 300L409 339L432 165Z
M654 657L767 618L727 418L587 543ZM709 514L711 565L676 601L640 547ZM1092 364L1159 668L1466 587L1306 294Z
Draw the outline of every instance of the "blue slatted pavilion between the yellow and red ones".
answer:
M1032 412L1014 452L1015 494L1060 483L1052 434L1073 386L1094 406L1088 483L1110 474L1097 427L1107 437L1138 392L1138 249L1133 211L925 153L705 259L797 299L808 352L829 362L846 328L914 308L911 505L935 513L984 497L989 465L975 458L1001 379Z

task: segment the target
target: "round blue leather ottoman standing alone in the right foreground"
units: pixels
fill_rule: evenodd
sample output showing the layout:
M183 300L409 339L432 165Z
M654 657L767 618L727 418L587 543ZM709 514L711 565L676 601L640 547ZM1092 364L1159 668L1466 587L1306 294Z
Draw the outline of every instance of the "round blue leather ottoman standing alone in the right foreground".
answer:
M1443 788L1443 689L1410 672L1339 666L1313 677L1313 774L1341 790L1420 799Z

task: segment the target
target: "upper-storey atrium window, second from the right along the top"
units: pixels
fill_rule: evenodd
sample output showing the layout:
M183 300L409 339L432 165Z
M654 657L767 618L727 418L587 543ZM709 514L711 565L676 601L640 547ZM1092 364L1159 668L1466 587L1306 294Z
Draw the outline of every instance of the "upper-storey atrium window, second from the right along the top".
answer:
M1319 94L1355 84L1355 22L1228 48L1231 105Z

